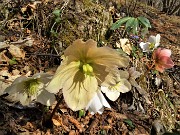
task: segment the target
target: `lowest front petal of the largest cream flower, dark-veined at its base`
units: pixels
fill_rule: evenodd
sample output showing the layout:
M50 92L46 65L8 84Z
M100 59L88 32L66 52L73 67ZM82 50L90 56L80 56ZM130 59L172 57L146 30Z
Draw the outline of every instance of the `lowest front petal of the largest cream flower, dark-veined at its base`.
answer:
M97 80L94 76L84 76L78 71L74 77L64 82L63 96L67 105L74 111L84 109L97 91Z

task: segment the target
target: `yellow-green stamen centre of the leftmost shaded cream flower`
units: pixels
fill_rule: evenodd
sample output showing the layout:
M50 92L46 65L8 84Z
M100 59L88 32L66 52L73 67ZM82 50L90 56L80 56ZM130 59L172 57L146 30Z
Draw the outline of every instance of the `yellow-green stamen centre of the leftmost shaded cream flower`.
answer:
M31 79L24 83L24 89L28 96L33 96L38 92L40 82L38 79Z

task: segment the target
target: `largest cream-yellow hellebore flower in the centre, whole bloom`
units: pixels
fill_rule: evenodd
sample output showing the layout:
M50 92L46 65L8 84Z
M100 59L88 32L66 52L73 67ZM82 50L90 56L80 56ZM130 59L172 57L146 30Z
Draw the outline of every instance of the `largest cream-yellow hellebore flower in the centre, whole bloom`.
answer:
M62 89L65 102L74 111L87 106L110 70L126 67L129 63L127 57L109 47L98 48L91 39L74 41L64 56L46 89L52 93Z

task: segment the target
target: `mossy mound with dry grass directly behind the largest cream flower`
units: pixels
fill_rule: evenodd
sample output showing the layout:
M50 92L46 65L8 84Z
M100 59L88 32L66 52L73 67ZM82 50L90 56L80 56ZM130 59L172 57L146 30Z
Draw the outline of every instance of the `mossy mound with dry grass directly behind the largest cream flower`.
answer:
M71 5L71 4L70 4ZM98 43L105 41L105 33L111 24L111 15L105 7L89 0L77 1L74 12L65 10L59 38L65 45L75 39L94 39Z

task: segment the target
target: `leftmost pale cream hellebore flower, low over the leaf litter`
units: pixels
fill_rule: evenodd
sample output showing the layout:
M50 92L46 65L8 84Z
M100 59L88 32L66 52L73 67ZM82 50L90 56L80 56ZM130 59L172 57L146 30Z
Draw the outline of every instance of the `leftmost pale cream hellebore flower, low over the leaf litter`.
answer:
M20 76L5 89L5 92L10 95L16 94L16 100L20 101L22 105L29 105L31 101L36 100L50 106L55 101L55 96L44 89L50 79L51 75L46 73L38 73L32 77Z

